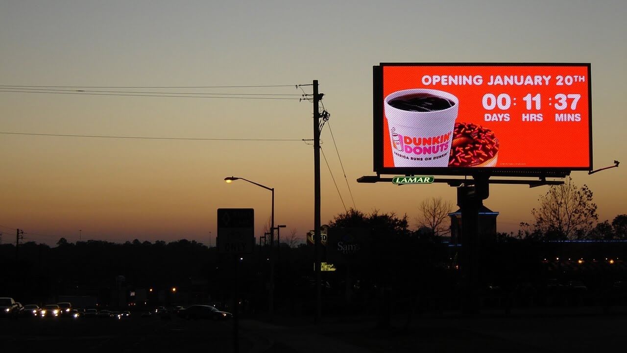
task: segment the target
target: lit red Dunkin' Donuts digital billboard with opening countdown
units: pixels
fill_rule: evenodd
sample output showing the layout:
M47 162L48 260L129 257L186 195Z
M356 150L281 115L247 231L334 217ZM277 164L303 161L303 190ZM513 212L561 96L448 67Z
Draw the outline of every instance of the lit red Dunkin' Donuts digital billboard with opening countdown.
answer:
M373 73L377 173L592 167L589 63L381 63Z

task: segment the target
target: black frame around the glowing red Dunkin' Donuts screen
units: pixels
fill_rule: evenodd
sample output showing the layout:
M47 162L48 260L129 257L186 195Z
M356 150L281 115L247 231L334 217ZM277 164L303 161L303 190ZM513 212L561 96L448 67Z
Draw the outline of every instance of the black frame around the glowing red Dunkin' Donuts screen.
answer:
M549 66L549 67L586 67L588 94L588 146L589 166L587 167L384 167L384 98L383 67L386 66ZM373 171L377 175L476 175L490 176L539 176L563 178L571 171L593 170L593 135L592 135L592 77L591 63L379 63L372 67L372 158Z

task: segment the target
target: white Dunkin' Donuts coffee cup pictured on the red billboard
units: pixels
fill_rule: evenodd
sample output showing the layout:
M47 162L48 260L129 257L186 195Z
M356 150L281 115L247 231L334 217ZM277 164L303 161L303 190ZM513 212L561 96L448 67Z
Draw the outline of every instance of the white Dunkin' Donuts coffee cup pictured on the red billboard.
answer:
M416 112L389 104L399 97L428 94L448 99L453 106L439 111ZM435 89L406 89L384 99L384 111L395 167L446 167L453 141L459 99Z

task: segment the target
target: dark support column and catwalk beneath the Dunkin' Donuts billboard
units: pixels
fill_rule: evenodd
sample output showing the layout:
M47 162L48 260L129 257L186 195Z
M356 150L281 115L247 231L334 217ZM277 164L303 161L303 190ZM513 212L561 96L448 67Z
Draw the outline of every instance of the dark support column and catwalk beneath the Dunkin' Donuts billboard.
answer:
M413 175L408 175L413 176ZM541 185L562 185L562 180L546 180L539 176L539 180L490 180L490 174L485 171L474 173L472 179L441 178L434 183L448 183L457 188L457 205L461 210L461 243L460 271L465 296L462 298L462 314L466 317L477 317L480 308L479 283L481 246L479 239L479 210L483 200L490 195L490 183L493 184L522 184L532 187ZM362 176L359 183L392 182L393 178L381 178L381 175Z

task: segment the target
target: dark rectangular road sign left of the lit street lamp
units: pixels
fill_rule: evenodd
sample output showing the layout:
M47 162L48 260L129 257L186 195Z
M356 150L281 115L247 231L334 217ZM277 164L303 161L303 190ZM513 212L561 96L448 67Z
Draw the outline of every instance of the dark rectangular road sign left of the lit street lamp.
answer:
M218 209L218 252L250 254L255 247L255 210Z

